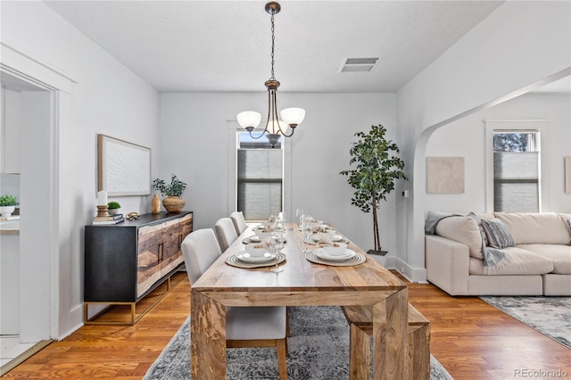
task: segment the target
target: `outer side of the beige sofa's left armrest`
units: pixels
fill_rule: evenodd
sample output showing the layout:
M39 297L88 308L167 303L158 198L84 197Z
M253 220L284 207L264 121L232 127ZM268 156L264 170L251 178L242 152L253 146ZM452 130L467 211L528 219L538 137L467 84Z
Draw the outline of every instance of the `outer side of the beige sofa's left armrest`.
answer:
M468 295L468 245L438 235L425 236L426 278L450 295Z

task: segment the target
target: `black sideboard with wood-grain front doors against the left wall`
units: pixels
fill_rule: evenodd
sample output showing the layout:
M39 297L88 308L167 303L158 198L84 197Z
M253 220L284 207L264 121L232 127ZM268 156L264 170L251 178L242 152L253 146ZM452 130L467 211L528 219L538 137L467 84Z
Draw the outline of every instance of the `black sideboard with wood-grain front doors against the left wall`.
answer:
M189 211L144 214L112 226L86 226L84 323L109 324L89 318L90 304L130 305L127 324L137 323L145 313L135 317L136 303L165 281L170 289L170 277L184 265L180 245L192 230L193 213Z

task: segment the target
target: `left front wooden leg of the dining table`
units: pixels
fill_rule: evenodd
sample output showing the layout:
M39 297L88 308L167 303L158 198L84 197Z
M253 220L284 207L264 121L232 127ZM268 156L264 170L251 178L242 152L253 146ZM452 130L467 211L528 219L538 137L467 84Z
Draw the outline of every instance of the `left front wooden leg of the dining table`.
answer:
M226 308L192 291L190 367L194 379L226 378Z

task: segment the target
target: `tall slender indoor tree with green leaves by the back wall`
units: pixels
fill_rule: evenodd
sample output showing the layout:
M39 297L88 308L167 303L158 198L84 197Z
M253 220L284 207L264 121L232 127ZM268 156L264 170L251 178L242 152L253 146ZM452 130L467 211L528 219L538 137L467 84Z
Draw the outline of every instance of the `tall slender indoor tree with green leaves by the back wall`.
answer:
M380 201L386 200L386 195L394 190L394 181L404 176L404 161L395 156L399 147L385 138L386 128L382 125L371 126L368 133L357 132L359 141L352 143L349 164L356 164L356 169L343 170L339 174L349 176L347 183L354 187L351 204L363 212L373 211L373 235L375 248L368 253L385 255L381 249L378 230L377 209Z

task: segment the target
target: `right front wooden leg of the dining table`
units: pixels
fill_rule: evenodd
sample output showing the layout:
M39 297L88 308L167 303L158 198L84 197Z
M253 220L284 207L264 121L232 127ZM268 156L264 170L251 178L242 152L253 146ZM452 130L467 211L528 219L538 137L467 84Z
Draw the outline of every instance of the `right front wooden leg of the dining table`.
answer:
M373 376L376 380L409 378L408 315L407 288L373 306Z

